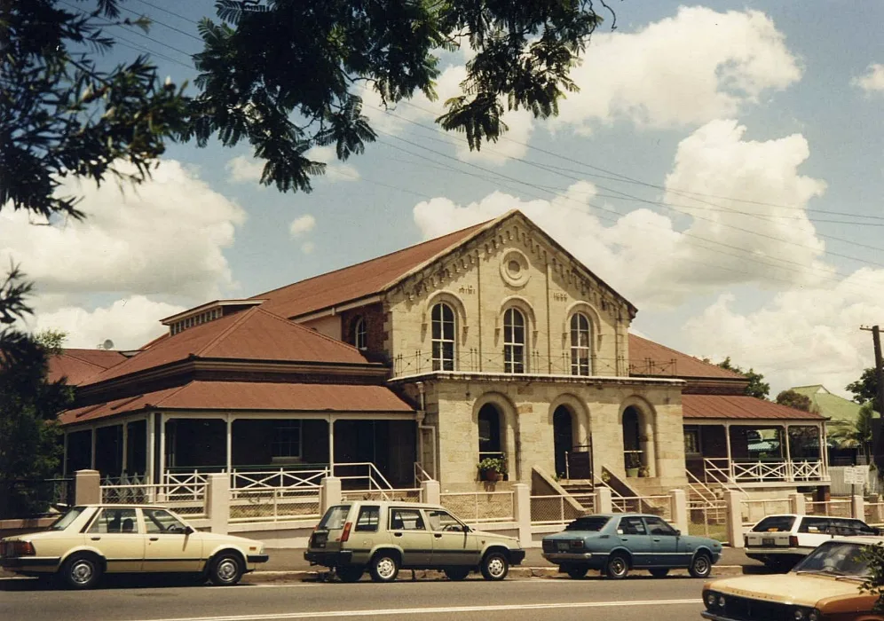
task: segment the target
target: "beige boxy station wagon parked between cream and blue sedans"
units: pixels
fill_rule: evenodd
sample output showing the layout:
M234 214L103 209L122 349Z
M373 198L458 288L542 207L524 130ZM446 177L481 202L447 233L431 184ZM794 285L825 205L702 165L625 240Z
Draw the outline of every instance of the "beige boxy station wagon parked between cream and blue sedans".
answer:
M400 569L443 570L452 580L478 570L502 580L525 550L516 538L474 530L445 507L360 500L328 507L304 558L334 569L343 582L365 570L375 582L392 582Z

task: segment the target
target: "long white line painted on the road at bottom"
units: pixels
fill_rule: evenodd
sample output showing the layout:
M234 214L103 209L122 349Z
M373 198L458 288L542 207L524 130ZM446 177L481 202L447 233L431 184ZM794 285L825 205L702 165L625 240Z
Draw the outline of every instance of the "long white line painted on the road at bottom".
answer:
M280 621L284 619L311 619L328 617L381 617L391 615L432 615L458 612L503 612L512 610L626 608L629 606L702 606L699 598L690 600L641 600L641 601L573 601L545 604L501 604L496 606L454 606L434 608L391 608L383 610L317 610L316 612L282 612L272 615L235 615L232 617L170 617L146 621Z

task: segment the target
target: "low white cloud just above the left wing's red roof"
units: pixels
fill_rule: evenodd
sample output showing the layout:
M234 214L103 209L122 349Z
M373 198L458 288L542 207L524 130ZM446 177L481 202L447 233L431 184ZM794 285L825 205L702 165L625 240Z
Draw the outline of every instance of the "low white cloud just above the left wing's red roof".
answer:
M132 295L94 311L65 306L39 313L29 323L35 331L64 331L65 347L93 349L110 339L115 350L134 350L168 331L160 319L181 311L184 307Z

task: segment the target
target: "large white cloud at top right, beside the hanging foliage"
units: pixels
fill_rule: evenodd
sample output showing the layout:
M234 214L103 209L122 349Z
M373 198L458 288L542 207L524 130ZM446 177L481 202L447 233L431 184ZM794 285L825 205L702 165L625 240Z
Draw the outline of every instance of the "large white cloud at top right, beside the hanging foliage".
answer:
M671 128L738 114L801 78L785 37L762 12L681 7L635 33L596 33L552 126L591 131L627 119Z

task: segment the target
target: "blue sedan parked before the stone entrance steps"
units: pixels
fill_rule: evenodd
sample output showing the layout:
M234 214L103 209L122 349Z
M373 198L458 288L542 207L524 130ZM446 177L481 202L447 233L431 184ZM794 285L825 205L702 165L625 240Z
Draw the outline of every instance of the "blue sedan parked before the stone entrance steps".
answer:
M683 535L657 515L586 515L564 532L543 538L543 558L571 578L583 578L588 570L600 570L608 578L648 570L663 578L671 569L707 578L721 556L720 542Z

